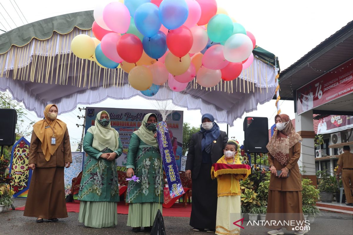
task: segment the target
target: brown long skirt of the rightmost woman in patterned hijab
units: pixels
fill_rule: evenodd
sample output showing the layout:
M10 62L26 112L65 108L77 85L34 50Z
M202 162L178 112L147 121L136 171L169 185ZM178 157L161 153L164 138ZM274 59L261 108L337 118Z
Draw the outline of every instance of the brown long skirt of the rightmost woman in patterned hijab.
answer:
M270 221L276 223L271 224ZM292 231L292 228L301 225L305 226L301 191L269 190L265 227Z

